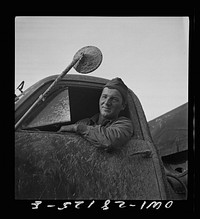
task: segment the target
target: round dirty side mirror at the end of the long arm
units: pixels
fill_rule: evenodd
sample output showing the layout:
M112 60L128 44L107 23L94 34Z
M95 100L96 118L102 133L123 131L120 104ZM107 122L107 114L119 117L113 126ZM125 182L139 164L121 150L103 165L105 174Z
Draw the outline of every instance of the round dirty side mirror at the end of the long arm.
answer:
M87 74L99 67L102 62L102 53L95 46L86 46L78 50L74 59L83 54L83 57L74 65L74 69L82 74Z

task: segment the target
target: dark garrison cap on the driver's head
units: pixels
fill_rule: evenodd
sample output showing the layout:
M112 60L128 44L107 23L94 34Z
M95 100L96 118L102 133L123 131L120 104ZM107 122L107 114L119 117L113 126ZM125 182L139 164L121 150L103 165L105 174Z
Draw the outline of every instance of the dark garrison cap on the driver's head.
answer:
M127 103L128 87L124 84L121 78L113 78L112 80L108 81L104 87L117 89L122 95L124 103Z

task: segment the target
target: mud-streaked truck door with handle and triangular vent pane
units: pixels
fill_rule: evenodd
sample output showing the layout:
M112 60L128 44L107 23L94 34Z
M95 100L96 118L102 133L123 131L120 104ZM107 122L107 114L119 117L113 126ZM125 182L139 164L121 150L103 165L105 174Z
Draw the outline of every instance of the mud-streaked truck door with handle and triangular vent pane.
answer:
M107 152L77 134L57 133L61 124L75 122L74 112L78 118L87 110L84 97L97 99L98 108L99 91L81 93L75 98L68 87L54 91L16 131L15 198L165 199L148 141L133 136L121 150Z

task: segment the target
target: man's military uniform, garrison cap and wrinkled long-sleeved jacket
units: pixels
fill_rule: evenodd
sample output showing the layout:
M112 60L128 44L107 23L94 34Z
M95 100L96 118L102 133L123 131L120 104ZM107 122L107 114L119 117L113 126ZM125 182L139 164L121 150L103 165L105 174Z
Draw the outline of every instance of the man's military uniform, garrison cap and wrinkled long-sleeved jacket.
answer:
M104 88L105 87L118 90L122 96L122 104L124 106L127 104L128 87L121 78L110 80ZM102 102L102 104L104 105L105 102ZM100 118L101 120L103 119L103 121L101 121ZM112 115L112 117L102 116L102 114L99 113L91 118L83 119L76 124L65 126L61 128L61 131L76 132L96 147L111 149L119 148L130 140L133 135L133 125L130 119L124 116L118 117L118 113Z

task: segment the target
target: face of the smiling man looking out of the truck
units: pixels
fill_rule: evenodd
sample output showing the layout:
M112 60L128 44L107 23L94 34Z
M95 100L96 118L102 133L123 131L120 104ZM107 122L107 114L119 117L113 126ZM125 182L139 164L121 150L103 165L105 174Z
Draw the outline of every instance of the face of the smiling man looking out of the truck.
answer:
M101 116L106 119L115 119L124 108L120 92L116 89L105 87L99 99Z

